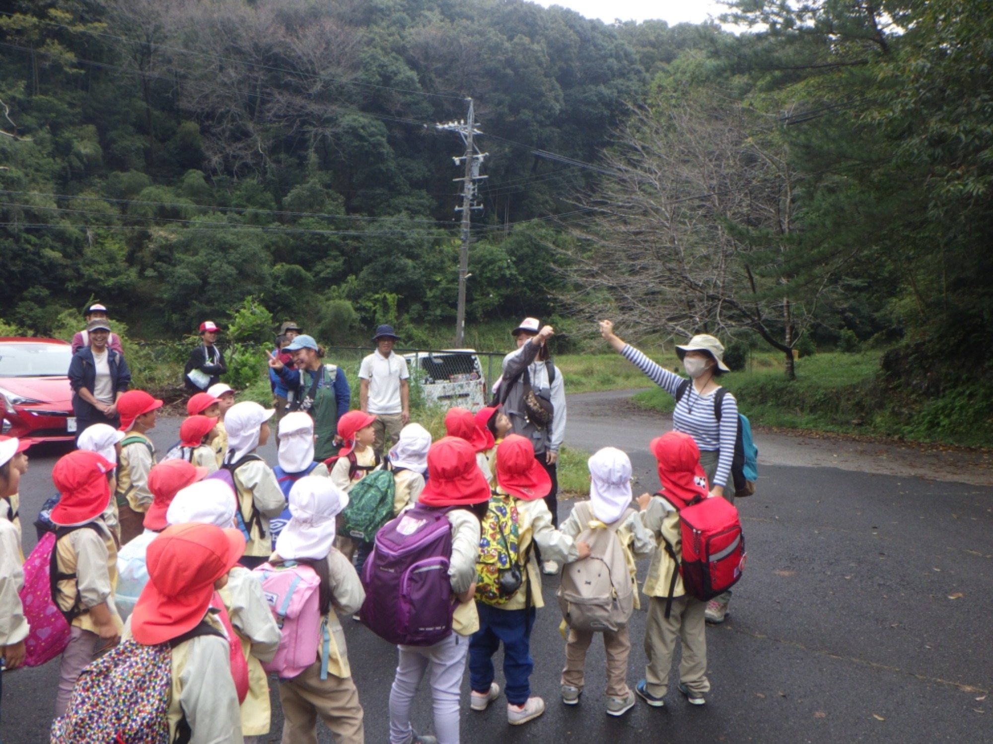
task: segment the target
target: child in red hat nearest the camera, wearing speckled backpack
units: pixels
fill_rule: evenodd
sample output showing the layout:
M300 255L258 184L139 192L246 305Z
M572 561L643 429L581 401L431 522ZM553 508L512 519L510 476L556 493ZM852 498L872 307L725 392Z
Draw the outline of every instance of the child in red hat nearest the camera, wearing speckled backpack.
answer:
M237 530L186 524L167 528L148 547L149 581L125 635L152 646L203 633L172 649L169 741L185 721L191 742L242 744L230 647L211 602L244 546Z

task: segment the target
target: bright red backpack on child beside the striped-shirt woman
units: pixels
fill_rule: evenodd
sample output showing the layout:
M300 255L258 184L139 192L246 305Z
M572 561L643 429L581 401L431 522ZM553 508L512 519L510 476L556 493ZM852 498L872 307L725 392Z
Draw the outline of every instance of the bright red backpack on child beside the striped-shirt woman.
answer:
M679 566L686 593L707 601L738 583L746 560L745 536L738 510L720 496L697 496L684 502L662 491L655 495L665 499L679 512L682 560L676 558L668 541L665 541L665 552ZM673 571L665 601L666 618L672 605L675 583L676 574Z

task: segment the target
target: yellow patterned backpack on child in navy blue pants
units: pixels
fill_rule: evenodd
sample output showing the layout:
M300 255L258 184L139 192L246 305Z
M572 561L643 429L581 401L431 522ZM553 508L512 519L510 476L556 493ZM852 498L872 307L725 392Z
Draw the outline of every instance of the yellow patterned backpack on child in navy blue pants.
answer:
M506 604L521 584L517 554L519 525L513 497L494 494L481 526L480 557L476 561L476 598L499 606Z

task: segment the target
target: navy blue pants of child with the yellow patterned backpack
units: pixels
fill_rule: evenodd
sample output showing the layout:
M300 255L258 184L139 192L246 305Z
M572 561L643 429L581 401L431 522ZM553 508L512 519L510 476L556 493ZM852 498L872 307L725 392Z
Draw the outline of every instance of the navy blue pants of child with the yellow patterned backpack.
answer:
M476 609L480 612L480 629L469 639L469 682L477 692L490 689L496 675L493 656L502 642L506 701L511 705L523 705L531 694L528 680L534 669L531 660L534 608L501 610L477 602Z

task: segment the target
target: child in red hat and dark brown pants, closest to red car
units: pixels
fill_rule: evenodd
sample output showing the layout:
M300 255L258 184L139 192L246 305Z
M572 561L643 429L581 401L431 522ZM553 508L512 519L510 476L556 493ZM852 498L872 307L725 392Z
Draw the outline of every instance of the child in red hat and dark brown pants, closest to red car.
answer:
M155 464L155 444L148 432L155 429L160 408L162 401L144 390L129 390L117 399L120 431L126 434L121 440L115 494L122 546L141 535L145 512L152 503L148 472Z

